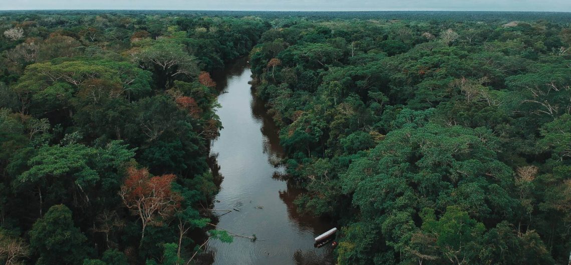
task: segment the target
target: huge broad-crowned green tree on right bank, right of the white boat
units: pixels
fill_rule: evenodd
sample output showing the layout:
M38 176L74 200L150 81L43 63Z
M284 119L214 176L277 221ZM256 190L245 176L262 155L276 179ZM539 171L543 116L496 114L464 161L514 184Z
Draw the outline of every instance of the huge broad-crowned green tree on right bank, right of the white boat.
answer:
M340 178L343 193L351 194L352 204L359 209L360 222L371 223L375 233L383 234L381 242L387 247L376 251L412 248L419 251L417 254L427 255L425 258L436 256L452 262L465 259L464 263L477 260L477 245L466 243L475 242L479 236L472 234L476 231L484 233L480 220L504 216L516 207L507 191L513 185L513 172L490 150L497 148L497 139L481 128L444 128L428 123L421 113L404 110L393 121L402 129L389 132L369 150L368 159L355 158ZM439 236L416 235L413 216L421 214L417 209L422 205L437 206L442 212L449 209L446 211L450 216L441 219L440 229L428 225L428 219L421 222ZM472 221L463 222L468 228L456 227L456 218ZM448 226L453 229L447 231ZM460 231L463 229L468 231ZM464 233L466 238L456 237L457 233ZM416 238L432 246L431 242L440 236L438 249L411 244ZM449 241L452 239L461 241ZM354 251L368 256L375 250L364 247ZM368 259L364 260L366 263Z

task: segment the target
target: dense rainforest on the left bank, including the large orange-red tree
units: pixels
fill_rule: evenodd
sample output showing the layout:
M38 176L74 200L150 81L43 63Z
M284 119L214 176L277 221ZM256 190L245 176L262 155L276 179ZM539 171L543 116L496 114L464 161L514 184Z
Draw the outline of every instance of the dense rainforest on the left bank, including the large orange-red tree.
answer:
M260 18L1 17L0 263L181 264L210 222L210 73ZM228 240L216 230L211 237Z

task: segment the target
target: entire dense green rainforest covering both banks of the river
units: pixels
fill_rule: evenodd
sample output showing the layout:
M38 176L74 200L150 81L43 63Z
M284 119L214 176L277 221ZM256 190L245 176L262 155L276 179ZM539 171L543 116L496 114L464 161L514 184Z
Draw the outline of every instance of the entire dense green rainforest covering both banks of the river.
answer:
M0 13L0 263L191 264L249 56L338 264L567 264L568 13Z

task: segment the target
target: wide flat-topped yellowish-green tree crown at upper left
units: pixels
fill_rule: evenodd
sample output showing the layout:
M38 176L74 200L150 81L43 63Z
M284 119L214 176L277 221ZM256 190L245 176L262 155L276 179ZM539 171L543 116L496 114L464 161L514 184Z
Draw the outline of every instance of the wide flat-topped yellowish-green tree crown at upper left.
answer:
M150 72L128 62L71 60L31 64L15 91L31 107L52 112L65 110L72 116L77 105L81 108L103 105L113 99L136 99L151 90L150 82ZM73 100L74 97L81 101Z

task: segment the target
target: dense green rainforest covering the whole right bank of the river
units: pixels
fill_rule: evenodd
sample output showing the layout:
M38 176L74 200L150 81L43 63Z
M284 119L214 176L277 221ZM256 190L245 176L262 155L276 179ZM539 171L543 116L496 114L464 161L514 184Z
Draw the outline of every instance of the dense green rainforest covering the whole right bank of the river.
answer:
M567 264L571 28L281 21L251 51L339 264ZM509 19L509 18L508 18Z

